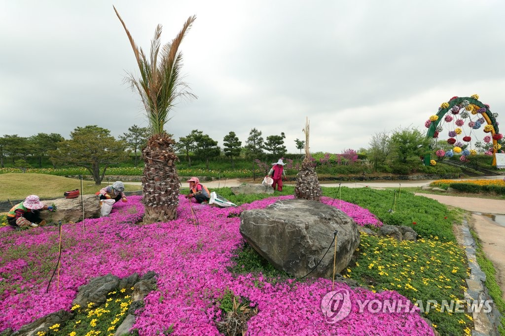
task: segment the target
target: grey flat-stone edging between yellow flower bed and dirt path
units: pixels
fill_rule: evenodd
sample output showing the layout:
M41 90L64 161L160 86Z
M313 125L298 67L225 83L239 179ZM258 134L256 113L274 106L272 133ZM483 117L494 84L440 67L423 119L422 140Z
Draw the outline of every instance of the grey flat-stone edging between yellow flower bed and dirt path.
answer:
M465 290L465 300L492 300L485 287L486 274L477 263L477 246L470 233L470 228L466 219L463 219L461 231L463 233L463 246L465 247L467 255L468 267L470 267L470 278L465 279L468 286L468 289ZM501 314L494 302L491 307L491 311L487 313L484 311L472 313L472 318L474 320L472 336L499 336L498 325L501 323Z

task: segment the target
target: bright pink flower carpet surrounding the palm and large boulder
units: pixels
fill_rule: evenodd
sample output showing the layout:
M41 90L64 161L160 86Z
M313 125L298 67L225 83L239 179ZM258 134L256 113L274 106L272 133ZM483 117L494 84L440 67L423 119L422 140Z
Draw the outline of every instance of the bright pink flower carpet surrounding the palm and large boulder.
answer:
M56 261L58 228L44 227L14 232L0 229L0 247L17 245L31 248L25 259L7 262L0 259L2 314L0 332L19 329L46 314L70 310L77 288L92 277L112 273L119 277L148 270L159 274L158 290L145 298L145 309L137 316L134 328L140 335L155 335L173 326L174 335L218 335L214 320L220 310L215 304L226 292L247 297L257 305L258 315L248 321L248 335L432 335L428 323L414 313L359 312L352 304L350 314L333 324L327 323L321 311L322 298L332 290L328 279L311 279L272 285L260 274L234 276L233 252L243 245L239 233L240 218L230 216L245 209L263 208L281 196L243 204L236 208L217 208L193 204L199 221L195 227L188 200L181 197L178 219L167 223L134 225L140 220L143 206L140 196L130 196L128 203L115 204L109 217L86 219L62 228L63 253L59 291L54 280L45 293L49 278L40 275L37 260ZM382 223L366 209L354 204L323 198L323 202L340 206L360 225ZM51 251L50 251L51 250ZM26 260L29 259L29 260ZM37 269L37 267L39 267ZM30 274L30 278L23 277ZM44 275L45 276L45 275ZM335 284L335 290L346 289L351 302L356 300L408 299L396 292L373 293Z

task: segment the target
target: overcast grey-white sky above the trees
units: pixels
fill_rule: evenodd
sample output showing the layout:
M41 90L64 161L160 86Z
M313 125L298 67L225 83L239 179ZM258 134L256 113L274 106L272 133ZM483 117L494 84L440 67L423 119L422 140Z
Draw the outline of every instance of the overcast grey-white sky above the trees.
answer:
M234 131L243 145L257 128L297 152L309 117L311 151L340 153L399 126L424 132L452 96L505 108L500 0L0 0L0 136L147 127L113 5L146 53L157 24L166 43L196 15L179 50L198 99L172 111L176 140L198 129L222 146Z

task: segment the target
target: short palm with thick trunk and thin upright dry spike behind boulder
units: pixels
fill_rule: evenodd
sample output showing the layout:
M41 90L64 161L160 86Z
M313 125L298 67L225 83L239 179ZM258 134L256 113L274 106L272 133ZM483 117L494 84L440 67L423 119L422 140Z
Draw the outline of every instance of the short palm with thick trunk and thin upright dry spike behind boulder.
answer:
M315 164L309 152L309 118L306 120L305 129L303 131L305 133L305 157L301 162L298 175L296 175L294 197L319 202L323 192L319 185Z

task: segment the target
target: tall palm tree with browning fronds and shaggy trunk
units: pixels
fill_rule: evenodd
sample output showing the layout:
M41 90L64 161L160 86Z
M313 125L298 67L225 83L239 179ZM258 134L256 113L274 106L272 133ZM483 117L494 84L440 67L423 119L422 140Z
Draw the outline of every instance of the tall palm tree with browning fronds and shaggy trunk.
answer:
M182 81L182 54L178 51L186 31L196 17L189 17L179 34L161 50L162 26L158 25L151 40L150 58L147 59L142 48L133 41L115 7L114 11L130 40L140 70L138 79L129 74L127 81L138 91L149 121L150 137L142 149L145 161L142 176L142 202L145 207L143 221L153 223L172 220L177 216L179 204L180 182L175 167L178 158L173 149L175 141L164 131L164 126L170 120L168 115L178 98L196 98Z

